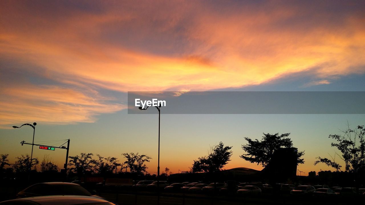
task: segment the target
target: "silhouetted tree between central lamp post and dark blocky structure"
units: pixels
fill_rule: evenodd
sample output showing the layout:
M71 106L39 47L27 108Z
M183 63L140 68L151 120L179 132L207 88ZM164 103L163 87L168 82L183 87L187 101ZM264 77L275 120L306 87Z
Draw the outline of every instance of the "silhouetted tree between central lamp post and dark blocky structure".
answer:
M208 156L199 157L198 160L194 160L191 167L192 172L215 172L221 170L224 165L230 161L232 156L232 147L225 146L222 142L218 145L210 148Z

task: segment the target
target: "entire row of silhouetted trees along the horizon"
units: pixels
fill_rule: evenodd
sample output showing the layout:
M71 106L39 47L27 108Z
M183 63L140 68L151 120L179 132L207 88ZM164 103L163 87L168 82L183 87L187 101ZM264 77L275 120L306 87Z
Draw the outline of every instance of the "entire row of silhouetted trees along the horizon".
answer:
M290 133L281 134L265 134L263 133L262 139L252 140L250 138L244 138L247 144L241 145L245 154L240 157L251 163L257 163L265 167L268 165L273 153L279 148L292 147L293 142L288 136ZM347 125L347 129L341 130L341 134L329 135L329 138L335 139L337 143L331 143L332 147L336 147L341 153L335 153L345 162L345 170L351 172L361 172L365 171L365 128L364 126L357 126L355 129L351 129ZM221 171L223 167L230 161L233 154L230 146L224 146L223 142L218 145L210 147L208 155L198 157L197 160L193 160L192 167L190 167L191 172L209 172L214 173L216 171ZM304 159L301 158L304 155L304 151L297 152L297 164L303 164ZM116 157L103 157L97 154L97 158L92 158L92 153L80 153L80 155L69 156L68 166L69 173L74 173L79 177L89 174L98 174L101 176L106 176L112 173L118 172L118 167L120 166L119 173L129 168L129 172L132 174L145 174L147 170L146 162L150 162L152 159L148 155L140 155L139 153L123 153L122 156L126 159L124 162L119 162ZM331 159L317 157L317 161L314 165L318 163L325 163L327 166L333 167L336 170L341 170L341 165L335 161L335 157L331 156ZM27 172L31 166L37 171L37 166L39 165L38 159L30 160L29 155L22 155L16 157L16 161L11 164L8 160L8 154L0 154L0 174L5 172L5 166L11 166L7 168L7 171L15 171L15 173ZM59 171L57 165L49 158L45 156L40 165L41 172L57 172ZM147 173L148 175L149 173ZM169 169L165 168L165 173L161 175L167 176L171 174Z

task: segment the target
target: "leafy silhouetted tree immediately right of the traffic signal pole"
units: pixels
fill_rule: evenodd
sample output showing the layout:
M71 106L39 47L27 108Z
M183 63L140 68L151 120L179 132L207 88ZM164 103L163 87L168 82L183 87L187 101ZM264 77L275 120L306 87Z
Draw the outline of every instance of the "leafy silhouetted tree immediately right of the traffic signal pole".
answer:
M80 156L69 156L70 160L68 166L73 166L69 170L77 173L79 177L93 172L93 165L96 163L91 158L92 153L80 153Z

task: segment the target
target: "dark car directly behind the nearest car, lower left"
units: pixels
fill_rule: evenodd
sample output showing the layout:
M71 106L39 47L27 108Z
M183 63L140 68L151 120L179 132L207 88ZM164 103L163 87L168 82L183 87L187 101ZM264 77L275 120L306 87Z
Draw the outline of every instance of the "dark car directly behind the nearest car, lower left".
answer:
M36 197L36 196L52 196L52 195L77 195L77 196L92 196L95 195L95 191L90 193L84 187L76 183L68 182L44 182L36 183L19 192L17 198Z

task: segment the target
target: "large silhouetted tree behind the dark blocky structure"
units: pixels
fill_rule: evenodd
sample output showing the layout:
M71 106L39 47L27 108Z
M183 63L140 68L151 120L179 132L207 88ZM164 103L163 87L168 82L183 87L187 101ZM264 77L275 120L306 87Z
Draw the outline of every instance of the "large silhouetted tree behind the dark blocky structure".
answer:
M251 140L250 138L245 138L248 144L242 145L242 149L247 152L247 154L243 154L240 157L251 162L257 163L257 165L262 165L265 167L268 165L274 151L279 148L288 148L293 146L293 142L290 138L286 138L290 135L290 133L281 134L278 133L271 135L265 134L262 136L262 140L258 141L257 139ZM301 156L304 155L304 151L297 152L297 164L303 164L304 159L300 159Z

